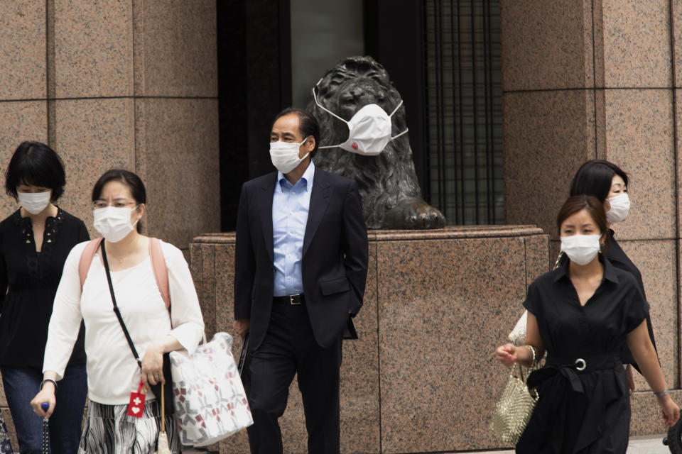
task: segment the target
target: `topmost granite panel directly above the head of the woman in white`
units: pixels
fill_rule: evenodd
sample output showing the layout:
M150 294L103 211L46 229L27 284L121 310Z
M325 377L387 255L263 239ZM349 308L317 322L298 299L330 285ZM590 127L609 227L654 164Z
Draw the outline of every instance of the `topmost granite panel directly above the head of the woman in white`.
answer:
M54 5L55 79L50 84L55 87L54 96L131 96L133 2L59 0L51 3Z

